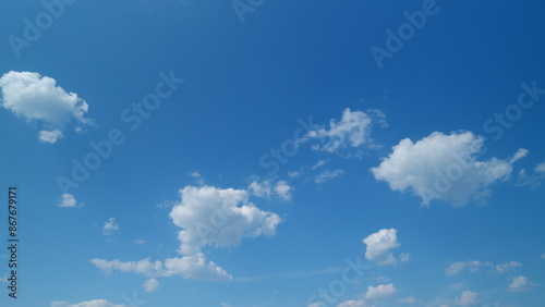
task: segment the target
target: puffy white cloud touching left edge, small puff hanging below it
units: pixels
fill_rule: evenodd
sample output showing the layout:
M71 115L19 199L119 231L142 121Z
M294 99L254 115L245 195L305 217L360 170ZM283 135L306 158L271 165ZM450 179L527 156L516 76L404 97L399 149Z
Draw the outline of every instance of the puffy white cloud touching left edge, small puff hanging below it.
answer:
M0 77L1 106L29 122L39 123L38 138L56 143L69 124L76 131L89 124L88 105L75 93L66 93L57 82L32 72L9 72Z

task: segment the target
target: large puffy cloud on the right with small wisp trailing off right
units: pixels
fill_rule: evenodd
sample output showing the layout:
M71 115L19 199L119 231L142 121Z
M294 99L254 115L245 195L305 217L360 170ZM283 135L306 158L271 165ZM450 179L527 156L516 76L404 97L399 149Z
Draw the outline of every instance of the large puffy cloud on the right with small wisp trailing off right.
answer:
M512 163L528 154L519 149L511 159L479 160L483 143L483 137L471 132L434 132L415 143L405 138L371 171L393 191L412 191L423 205L435 199L455 206L463 206L470 199L482 201L491 194L487 187L506 180Z

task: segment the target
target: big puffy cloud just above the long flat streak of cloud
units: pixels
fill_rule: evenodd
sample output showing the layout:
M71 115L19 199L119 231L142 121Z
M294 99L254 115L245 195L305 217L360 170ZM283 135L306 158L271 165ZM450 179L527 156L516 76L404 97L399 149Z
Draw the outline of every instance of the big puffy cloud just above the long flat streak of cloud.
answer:
M170 218L182 229L178 238L183 255L199 253L204 246L237 246L244 237L271 236L281 222L278 214L249 202L245 191L186 186L180 196Z

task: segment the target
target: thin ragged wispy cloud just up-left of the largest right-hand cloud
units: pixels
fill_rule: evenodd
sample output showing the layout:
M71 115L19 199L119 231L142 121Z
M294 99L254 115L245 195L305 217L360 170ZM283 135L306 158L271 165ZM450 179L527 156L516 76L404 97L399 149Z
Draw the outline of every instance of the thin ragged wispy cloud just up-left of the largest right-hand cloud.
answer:
M376 123L386 126L385 115L380 111L362 112L347 108L340 121L330 120L329 127L316 126L305 135L303 142L317 140L318 143L312 148L329 152L340 152L343 149L362 146L374 147L371 131Z

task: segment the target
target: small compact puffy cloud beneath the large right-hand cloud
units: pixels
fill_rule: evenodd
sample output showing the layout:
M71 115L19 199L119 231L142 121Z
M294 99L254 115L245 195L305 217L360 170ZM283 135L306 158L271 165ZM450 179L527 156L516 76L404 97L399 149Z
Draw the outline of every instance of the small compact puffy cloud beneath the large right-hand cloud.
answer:
M376 233L368 235L363 240L366 245L365 259L378 262L380 266L396 265L398 259L393 256L391 249L399 247L401 244L398 242L398 231L395 229L384 229ZM402 254L401 257L404 261L409 260L409 254Z

